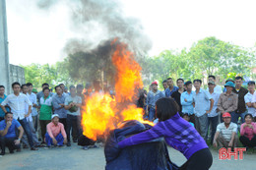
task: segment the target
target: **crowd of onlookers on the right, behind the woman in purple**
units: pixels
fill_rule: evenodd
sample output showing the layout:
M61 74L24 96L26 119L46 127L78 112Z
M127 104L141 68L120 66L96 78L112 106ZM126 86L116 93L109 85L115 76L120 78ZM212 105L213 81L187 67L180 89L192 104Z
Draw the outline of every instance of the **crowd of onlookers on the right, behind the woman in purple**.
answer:
M256 92L255 82L242 86L243 78L227 79L224 89L216 85L216 77L208 77L208 87L203 89L201 80L184 82L168 78L162 82L164 90L153 82L150 91L141 95L140 107L145 108L146 118L156 124L156 103L170 97L178 105L179 115L190 122L201 137L215 147L236 147L240 141L248 152L256 147ZM193 90L194 86L194 90ZM239 137L239 138L238 138Z

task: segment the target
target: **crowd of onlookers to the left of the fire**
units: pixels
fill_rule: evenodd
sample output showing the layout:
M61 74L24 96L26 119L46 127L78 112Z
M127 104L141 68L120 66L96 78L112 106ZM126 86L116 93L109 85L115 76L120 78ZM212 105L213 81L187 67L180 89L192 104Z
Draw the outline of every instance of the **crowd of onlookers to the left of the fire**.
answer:
M95 89L99 90L95 85ZM6 95L5 86L0 85L0 139L1 155L5 147L10 153L31 147L37 150L41 146L71 146L78 142L88 149L95 142L82 134L81 108L85 98L93 92L88 84L70 85L69 92L63 84L56 85L55 93L47 83L36 92L32 83L20 85L13 83L13 93Z

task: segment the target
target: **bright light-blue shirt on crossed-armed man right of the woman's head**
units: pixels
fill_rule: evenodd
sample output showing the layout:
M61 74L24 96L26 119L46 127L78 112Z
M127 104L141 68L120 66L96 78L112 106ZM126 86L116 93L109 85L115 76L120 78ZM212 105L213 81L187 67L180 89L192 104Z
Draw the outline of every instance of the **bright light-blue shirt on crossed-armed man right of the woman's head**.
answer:
M187 91L181 93L180 103L182 105L182 113L188 113L189 115L194 113L193 93L194 91L191 91L190 94L188 94ZM187 101L185 101L185 99L187 99Z

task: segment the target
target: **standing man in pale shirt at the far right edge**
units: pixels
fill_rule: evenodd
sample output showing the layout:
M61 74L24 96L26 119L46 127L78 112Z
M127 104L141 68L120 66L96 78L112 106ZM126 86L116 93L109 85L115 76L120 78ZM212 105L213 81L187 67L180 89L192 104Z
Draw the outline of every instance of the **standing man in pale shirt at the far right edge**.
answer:
M255 118L256 117L256 114L255 114L256 108L253 107L253 100L252 100L253 95L256 95L255 82L253 82L253 81L248 82L248 90L249 90L249 92L246 95L244 95L244 101L246 104L248 114L251 114Z

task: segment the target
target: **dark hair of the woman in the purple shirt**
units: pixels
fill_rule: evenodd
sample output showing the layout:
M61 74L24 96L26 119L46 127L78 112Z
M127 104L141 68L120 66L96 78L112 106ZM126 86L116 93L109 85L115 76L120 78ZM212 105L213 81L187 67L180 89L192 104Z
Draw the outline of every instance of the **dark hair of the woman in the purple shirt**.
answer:
M165 121L171 118L179 110L177 103L172 98L167 97L160 98L156 102L156 106L157 117L160 119L160 121Z

